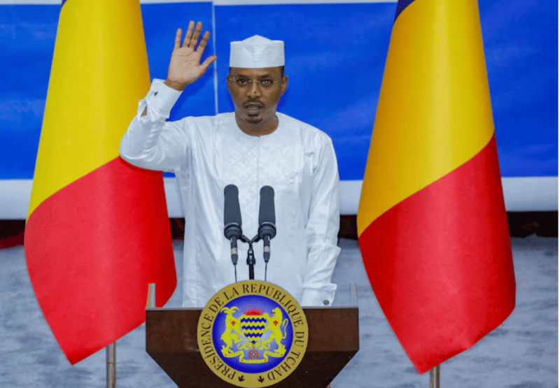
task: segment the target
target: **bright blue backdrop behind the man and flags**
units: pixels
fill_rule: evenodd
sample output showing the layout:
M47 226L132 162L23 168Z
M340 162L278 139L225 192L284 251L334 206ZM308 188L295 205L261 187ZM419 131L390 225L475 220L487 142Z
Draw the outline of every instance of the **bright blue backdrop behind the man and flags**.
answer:
M253 34L286 42L279 110L328 133L342 180L363 177L396 3L215 6L218 111L229 43ZM33 178L60 6L0 5L0 179ZM151 76L165 78L177 27L211 30L212 3L142 5ZM505 177L558 175L558 5L480 1L500 168ZM205 56L213 54L208 46ZM211 69L171 120L214 115Z

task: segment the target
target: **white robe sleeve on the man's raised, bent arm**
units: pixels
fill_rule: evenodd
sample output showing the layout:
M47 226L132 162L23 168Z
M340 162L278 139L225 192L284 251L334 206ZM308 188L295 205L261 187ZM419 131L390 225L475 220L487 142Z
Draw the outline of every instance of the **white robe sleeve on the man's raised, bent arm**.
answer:
M132 119L120 141L120 156L134 166L150 170L173 172L186 161L188 136L186 120L166 122L181 92L155 79L150 91L138 103ZM142 116L147 108L146 115Z

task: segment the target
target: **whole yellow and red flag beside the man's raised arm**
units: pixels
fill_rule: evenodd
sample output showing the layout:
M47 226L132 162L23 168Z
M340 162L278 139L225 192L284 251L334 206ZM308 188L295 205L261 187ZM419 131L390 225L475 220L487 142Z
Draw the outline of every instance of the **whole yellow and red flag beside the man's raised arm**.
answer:
M68 0L55 52L25 229L31 285L71 364L162 306L176 273L162 174L120 159L150 85L138 0Z

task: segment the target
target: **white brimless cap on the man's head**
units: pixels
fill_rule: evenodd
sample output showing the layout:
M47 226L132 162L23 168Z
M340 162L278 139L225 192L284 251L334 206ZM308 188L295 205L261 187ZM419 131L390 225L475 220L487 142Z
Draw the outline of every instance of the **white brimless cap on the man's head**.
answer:
M284 66L283 41L271 41L259 35L230 43L230 67L262 69Z

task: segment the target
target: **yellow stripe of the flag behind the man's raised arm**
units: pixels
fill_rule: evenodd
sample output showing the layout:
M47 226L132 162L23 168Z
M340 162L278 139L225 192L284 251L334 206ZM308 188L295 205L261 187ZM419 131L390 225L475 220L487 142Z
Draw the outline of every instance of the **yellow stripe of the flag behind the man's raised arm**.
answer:
M122 17L139 13L138 0L62 6L27 217L48 196L118 157L150 82L146 43L137 37L141 15Z

